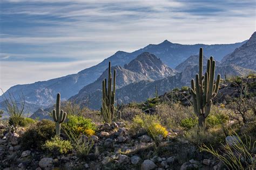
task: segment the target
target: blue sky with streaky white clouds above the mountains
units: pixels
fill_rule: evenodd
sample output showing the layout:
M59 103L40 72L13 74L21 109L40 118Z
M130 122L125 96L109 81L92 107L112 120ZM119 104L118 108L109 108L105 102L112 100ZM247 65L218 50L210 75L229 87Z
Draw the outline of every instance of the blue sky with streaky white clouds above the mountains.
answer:
M256 30L255 9L255 0L1 0L0 87L77 73L165 39L242 42Z

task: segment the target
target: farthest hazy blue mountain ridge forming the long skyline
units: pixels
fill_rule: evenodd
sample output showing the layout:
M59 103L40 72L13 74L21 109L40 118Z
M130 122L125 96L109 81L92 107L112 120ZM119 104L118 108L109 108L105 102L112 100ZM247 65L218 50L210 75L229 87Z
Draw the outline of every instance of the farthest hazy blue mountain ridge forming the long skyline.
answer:
M196 55L199 47L204 48L206 56L213 55L216 56L218 60L221 60L225 55L244 43L245 42L215 45L183 45L171 43L165 40L163 43L156 45L150 44L131 53L118 51L114 55L103 60L103 62L76 74L70 74L68 76L48 81L38 81L32 84L13 86L7 91L7 93L11 92L16 98L18 98L21 92L23 92L27 103L31 104L31 111L36 111L38 107L45 107L54 103L55 96L58 92L62 93L62 100L66 100L77 94L84 86L92 83L100 77L107 68L109 61L112 62L113 66L124 66L140 55L140 53L150 52L157 55L167 66L175 67L183 62L188 56ZM1 100L3 100L2 97L0 97L0 101Z

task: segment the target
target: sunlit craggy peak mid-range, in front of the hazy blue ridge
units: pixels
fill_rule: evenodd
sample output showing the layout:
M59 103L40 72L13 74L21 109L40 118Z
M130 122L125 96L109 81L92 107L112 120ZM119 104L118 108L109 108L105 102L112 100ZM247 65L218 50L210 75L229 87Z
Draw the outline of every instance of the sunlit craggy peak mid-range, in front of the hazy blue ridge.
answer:
M116 88L119 89L131 83L136 83L142 80L154 81L161 78L174 76L176 70L166 66L159 58L149 52L140 54L137 58L133 59L124 68L121 66L112 66L111 71L117 71ZM70 100L83 100L88 99L89 94L102 91L102 80L108 75L108 69L93 83L83 87L78 94L71 97ZM99 99L98 97L96 97ZM90 98L89 98L90 100ZM100 101L100 99L99 99Z

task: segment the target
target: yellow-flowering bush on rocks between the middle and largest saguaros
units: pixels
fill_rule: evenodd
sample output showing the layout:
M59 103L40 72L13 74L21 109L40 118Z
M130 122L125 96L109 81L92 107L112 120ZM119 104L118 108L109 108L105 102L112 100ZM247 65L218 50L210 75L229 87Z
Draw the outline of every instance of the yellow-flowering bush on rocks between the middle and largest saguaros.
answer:
M168 135L168 131L160 124L159 117L151 114L141 114L134 118L134 123L144 128L147 134L154 140L156 146L159 146L161 140Z

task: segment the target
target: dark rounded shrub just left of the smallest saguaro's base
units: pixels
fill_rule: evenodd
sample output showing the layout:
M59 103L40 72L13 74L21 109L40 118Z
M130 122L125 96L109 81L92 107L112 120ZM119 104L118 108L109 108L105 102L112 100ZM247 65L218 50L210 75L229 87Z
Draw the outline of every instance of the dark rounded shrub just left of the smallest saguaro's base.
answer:
M50 120L38 121L29 127L21 137L24 149L41 149L46 140L55 136L55 124Z

